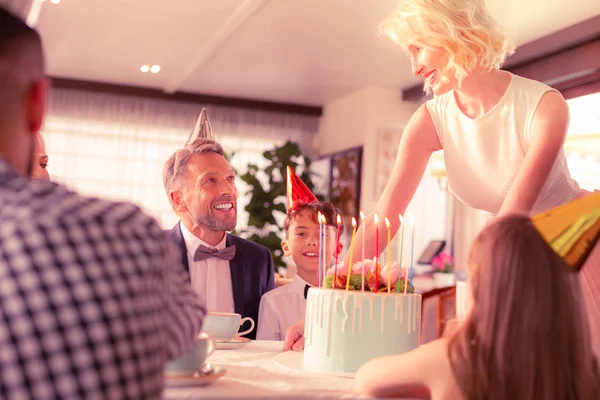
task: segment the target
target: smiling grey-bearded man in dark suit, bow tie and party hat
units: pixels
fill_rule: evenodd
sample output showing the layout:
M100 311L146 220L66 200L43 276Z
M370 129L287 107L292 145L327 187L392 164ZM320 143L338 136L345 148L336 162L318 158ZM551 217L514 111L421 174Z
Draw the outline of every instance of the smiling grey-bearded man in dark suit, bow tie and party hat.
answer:
M209 312L236 312L257 322L260 299L274 287L273 257L267 248L228 233L237 222L235 172L212 139L204 110L199 127L199 137L171 155L163 169L180 219L169 236ZM246 336L254 339L256 329Z

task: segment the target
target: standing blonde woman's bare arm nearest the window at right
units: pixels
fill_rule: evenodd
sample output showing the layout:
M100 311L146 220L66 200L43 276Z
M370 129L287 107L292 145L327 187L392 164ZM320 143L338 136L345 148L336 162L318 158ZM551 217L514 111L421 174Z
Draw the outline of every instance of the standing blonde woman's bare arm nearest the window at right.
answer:
M498 216L529 214L562 150L569 127L569 106L556 92L544 94L530 127L529 149Z

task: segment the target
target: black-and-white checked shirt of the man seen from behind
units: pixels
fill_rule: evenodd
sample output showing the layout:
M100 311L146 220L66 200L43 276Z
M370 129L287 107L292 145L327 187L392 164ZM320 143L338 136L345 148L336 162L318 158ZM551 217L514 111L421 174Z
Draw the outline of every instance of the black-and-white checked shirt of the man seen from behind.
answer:
M160 398L204 317L163 235L0 158L0 398Z

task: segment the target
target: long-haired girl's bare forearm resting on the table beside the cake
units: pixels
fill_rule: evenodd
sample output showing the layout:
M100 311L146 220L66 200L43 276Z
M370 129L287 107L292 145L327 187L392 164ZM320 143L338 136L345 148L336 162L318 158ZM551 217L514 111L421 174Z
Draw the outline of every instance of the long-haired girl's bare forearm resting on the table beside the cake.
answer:
M434 384L432 377L445 379L444 374L450 374L447 359L445 339L434 340L408 353L376 358L358 370L354 389L371 397L429 398L429 388Z

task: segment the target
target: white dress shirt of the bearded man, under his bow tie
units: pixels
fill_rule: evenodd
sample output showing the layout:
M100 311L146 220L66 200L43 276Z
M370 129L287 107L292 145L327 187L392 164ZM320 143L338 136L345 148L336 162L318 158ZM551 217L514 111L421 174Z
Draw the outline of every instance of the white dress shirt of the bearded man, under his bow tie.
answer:
M200 303L206 307L207 312L235 312L229 261L217 257L194 261L194 254L200 245L223 250L226 246L227 234L216 246L210 246L197 238L183 224L179 226L188 253L192 289L200 297Z

